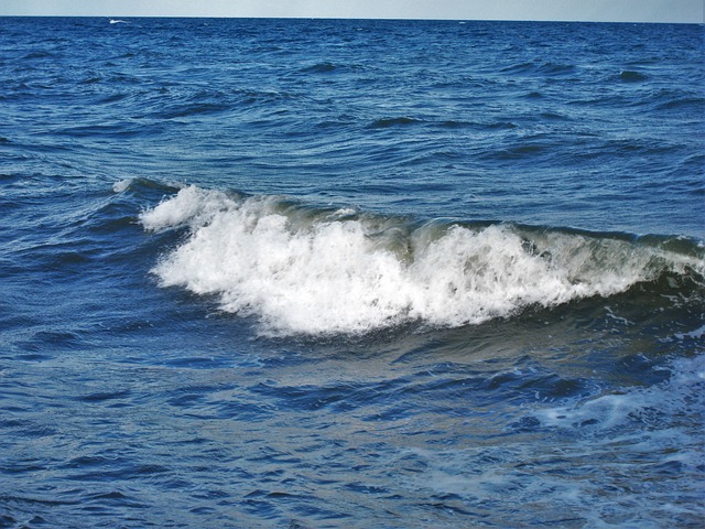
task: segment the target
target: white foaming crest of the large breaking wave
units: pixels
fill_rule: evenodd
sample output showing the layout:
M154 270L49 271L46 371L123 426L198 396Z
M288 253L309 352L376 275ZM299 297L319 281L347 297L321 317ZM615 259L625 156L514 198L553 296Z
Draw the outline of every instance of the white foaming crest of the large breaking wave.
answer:
M705 269L696 245L688 256L626 237L419 224L193 185L140 219L151 231L188 228L153 269L164 287L215 294L273 334L477 324Z

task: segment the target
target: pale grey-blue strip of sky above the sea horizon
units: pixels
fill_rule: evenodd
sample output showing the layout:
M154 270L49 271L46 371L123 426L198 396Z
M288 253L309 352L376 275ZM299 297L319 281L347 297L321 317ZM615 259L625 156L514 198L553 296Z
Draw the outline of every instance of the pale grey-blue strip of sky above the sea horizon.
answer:
M705 22L705 0L0 0L0 15Z

